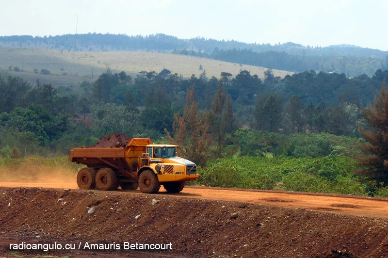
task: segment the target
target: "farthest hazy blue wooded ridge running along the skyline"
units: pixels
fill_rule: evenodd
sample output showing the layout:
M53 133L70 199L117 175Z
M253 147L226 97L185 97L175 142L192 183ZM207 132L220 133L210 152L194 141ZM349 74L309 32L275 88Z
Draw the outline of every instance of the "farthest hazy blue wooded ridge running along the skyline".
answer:
M235 40L215 40L204 37L195 37L190 39L179 39L176 36L165 35L162 33L151 35L126 35L126 34L65 34L57 36L29 36L14 35L0 36L2 44L12 43L14 47L47 47L61 48L66 50L148 50L148 51L169 51L169 50L195 50L201 53L211 53L217 49L251 49L254 52L276 51L286 52L297 56L357 56L362 58L375 57L386 59L388 51L382 51L371 48L360 48L353 45L337 45L329 47L320 46L302 46L292 42L284 44L249 44ZM43 46L42 46L43 45ZM96 49L95 49L96 48Z

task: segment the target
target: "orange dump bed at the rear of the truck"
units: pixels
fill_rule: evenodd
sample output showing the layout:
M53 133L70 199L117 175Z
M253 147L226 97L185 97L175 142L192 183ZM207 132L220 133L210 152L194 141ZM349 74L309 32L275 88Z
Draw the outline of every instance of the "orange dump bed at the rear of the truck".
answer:
M146 152L146 145L151 144L148 138L132 138L125 147L118 148L73 148L69 161L85 164L88 167L112 167L117 169L119 161L127 168L137 166L137 158Z

